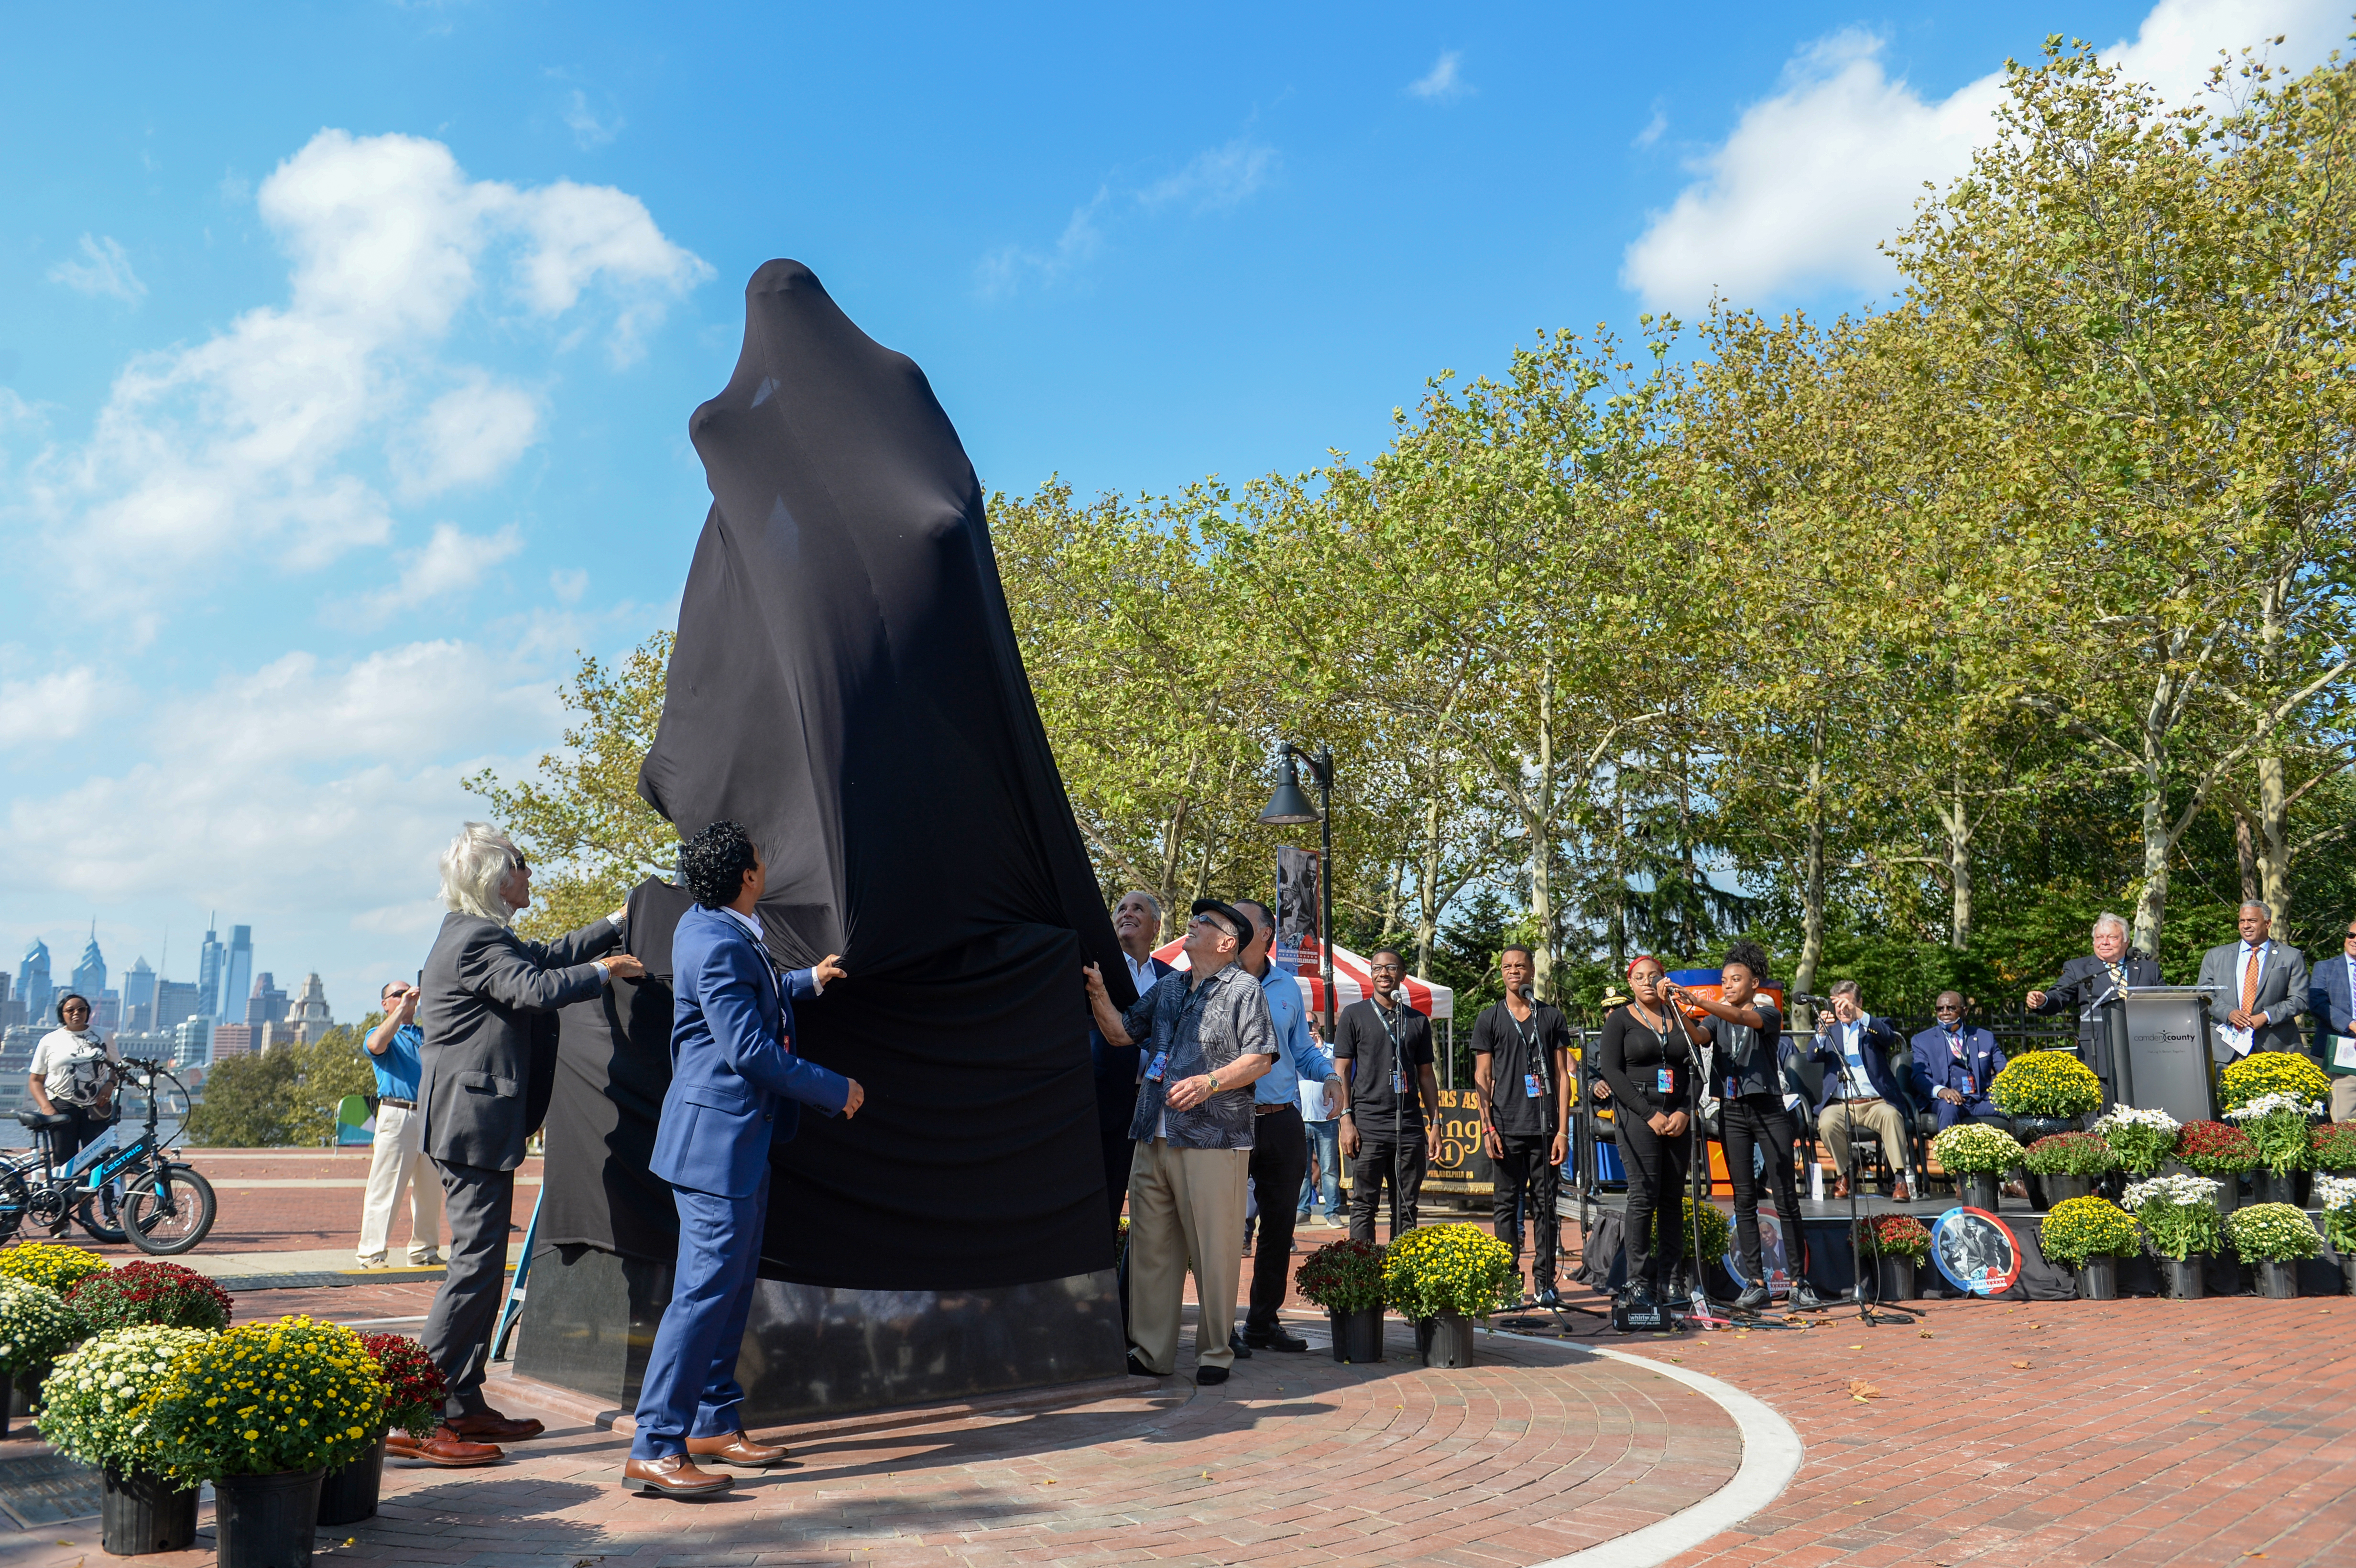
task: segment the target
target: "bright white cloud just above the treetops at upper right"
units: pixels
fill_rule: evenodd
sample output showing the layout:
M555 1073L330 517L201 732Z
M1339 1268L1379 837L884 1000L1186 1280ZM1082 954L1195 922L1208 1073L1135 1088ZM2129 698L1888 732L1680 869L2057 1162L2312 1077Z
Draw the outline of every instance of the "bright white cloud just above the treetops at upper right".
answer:
M2342 0L2158 0L2135 42L2104 54L2189 101L2219 49L2285 33L2276 64L2304 68L2344 31ZM1621 283L1649 306L1687 311L1710 290L1885 287L1892 271L1875 245L1908 224L1922 181L1944 186L1970 167L2003 99L1996 71L1925 101L1882 71L1885 42L1842 31L1805 47L1781 89L1694 160L1694 184L1628 247Z

